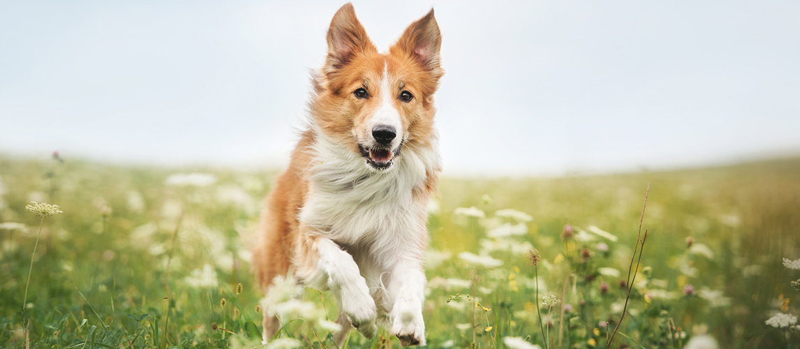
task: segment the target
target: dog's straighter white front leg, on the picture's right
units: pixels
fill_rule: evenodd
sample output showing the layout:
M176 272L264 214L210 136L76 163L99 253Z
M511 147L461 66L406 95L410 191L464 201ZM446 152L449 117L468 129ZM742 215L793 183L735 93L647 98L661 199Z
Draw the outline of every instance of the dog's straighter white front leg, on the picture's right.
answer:
M392 335L404 347L425 345L425 322L422 303L425 300L425 272L421 258L400 259L394 265L389 283L394 306L390 313Z

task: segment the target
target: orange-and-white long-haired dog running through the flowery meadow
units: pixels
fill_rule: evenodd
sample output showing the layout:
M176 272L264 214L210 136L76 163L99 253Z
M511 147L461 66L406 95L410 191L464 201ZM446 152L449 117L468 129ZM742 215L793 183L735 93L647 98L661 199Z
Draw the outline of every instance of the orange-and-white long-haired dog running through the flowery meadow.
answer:
M348 3L334 15L313 79L308 129L279 175L258 227L262 290L290 270L329 289L338 322L373 338L386 323L402 345L424 345L422 260L427 203L441 164L434 92L444 73L434 11L379 53ZM278 331L264 314L264 339Z

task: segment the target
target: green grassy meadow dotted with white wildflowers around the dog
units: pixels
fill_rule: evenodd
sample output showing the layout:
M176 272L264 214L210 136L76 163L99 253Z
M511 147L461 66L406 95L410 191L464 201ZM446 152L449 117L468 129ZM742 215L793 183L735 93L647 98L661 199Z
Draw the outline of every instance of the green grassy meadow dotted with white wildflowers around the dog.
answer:
M330 293L288 280L260 303L248 241L274 175L0 157L0 347L260 347L265 307L267 347L336 347ZM800 347L800 158L444 178L429 211L427 347Z

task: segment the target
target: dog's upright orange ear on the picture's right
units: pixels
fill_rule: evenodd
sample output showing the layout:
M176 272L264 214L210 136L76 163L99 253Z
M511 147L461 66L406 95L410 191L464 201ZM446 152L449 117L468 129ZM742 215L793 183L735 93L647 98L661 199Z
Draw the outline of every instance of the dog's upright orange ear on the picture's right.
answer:
M428 70L439 70L439 48L442 34L434 18L434 10L417 22L411 23L397 43L390 48L391 53L402 53L416 59ZM400 51L400 52L398 52Z

